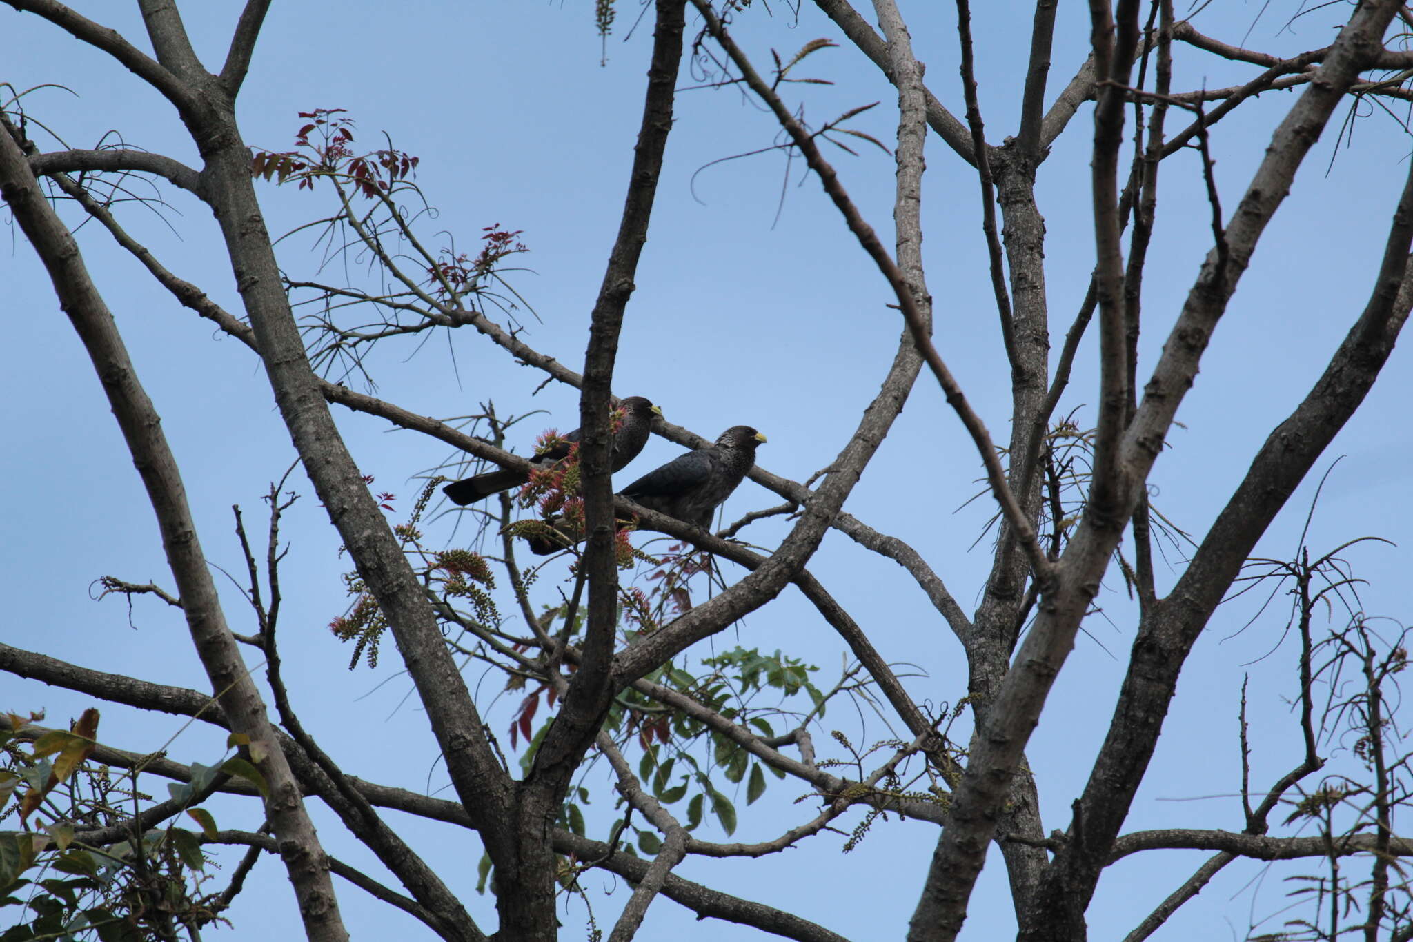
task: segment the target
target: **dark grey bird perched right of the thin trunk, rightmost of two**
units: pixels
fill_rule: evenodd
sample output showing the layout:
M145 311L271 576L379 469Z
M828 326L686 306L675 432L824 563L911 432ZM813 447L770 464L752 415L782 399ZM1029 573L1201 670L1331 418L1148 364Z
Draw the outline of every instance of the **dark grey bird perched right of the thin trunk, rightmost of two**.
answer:
M756 463L756 449L764 442L766 436L749 425L732 425L711 448L678 455L639 477L619 496L705 530L716 507L745 480ZM557 521L551 518L548 523L554 525ZM626 523L620 520L619 525ZM537 556L547 556L565 545L552 535L528 537L527 542Z

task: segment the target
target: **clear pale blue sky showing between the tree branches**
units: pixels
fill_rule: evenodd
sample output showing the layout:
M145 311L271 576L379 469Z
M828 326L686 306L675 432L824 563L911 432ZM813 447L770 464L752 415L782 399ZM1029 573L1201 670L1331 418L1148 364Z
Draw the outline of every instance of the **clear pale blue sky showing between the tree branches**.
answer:
M208 64L219 62L239 4L188 6L198 52ZM904 6L903 11L917 55L927 62L928 83L961 113L950 4L913 6L917 8ZM134 7L90 3L81 8L146 47ZM975 13L978 79L992 143L1015 131L1019 112L1024 51L1017 37L1029 35L1029 28L1017 28L1019 8L991 4ZM1270 11L1258 20L1259 11L1255 3L1214 4L1195 24L1275 52L1330 41L1328 20L1318 16L1283 28L1290 13L1277 17ZM445 230L463 246L493 223L523 232L531 251L521 257L527 270L514 275L514 285L537 315L521 312L524 336L537 349L578 366L588 312L617 227L639 121L650 23L629 34L636 13L633 6L619 11L608 62L601 66L588 4L346 3L333 16L319 4L276 4L242 96L244 137L256 147L287 148L300 124L297 112L314 107L348 109L369 147L386 131L397 147L422 158L417 179L439 212L428 232ZM836 35L808 6L796 17L784 4L767 10L757 3L738 21L738 35L757 62L767 61L771 47L787 55L815 37ZM694 18L690 28L695 28ZM194 147L165 102L102 54L35 17L8 10L0 11L0 34L18 38L7 44L0 79L21 89L66 86L35 90L25 107L72 145L95 145L116 130L133 145L195 161ZM1051 97L1082 61L1087 35L1082 8L1063 6ZM892 137L893 95L861 54L845 45L815 54L801 68L834 82L788 88L808 119L818 123L879 100L882 105L856 119L856 126L885 141ZM1174 86L1217 88L1249 75L1246 66L1188 52ZM684 69L681 85L697 85L699 78ZM1218 126L1212 145L1228 208L1293 100L1291 93L1267 95ZM887 369L901 325L885 306L890 299L886 284L818 184L800 177L798 162L787 168L783 157L771 153L706 167L776 140L773 119L735 89L678 96L615 386L619 394L649 395L671 421L706 436L735 424L755 425L770 436L760 465L804 480L829 463L852 431ZM1195 537L1205 532L1259 442L1304 395L1364 306L1403 184L1406 141L1382 113L1361 119L1354 145L1338 153L1331 129L1262 242L1178 414L1183 427L1170 435L1170 449L1152 479L1156 506ZM1039 186L1048 232L1047 294L1056 352L1092 267L1088 144L1088 112L1081 110L1056 143ZM835 151L831 160L890 244L892 160L868 145L858 157ZM1193 154L1163 165L1160 222L1145 281L1143 354L1149 366L1210 247L1198 171ZM130 230L177 274L235 306L229 266L206 210L182 193L162 192L170 205L158 213L124 208ZM274 232L329 210L321 196L288 188L264 186L261 198ZM924 208L937 345L1000 441L1007 434L1007 370L985 273L976 181L935 137L928 140ZM259 364L244 347L215 338L206 322L179 309L95 226L81 233L81 244L162 414L206 555L213 565L237 572L242 561L232 537L230 506L239 503L247 521L259 520L260 494L294 459ZM307 242L292 239L281 249L281 263L298 278L317 271L319 256ZM90 583L102 575L170 583L155 524L99 383L32 253L13 229L10 246L0 254L0 278L6 284L0 311L8 330L0 352L0 395L8 404L0 480L10 497L3 514L8 538L0 548L8 602L4 623L10 626L4 637L88 667L202 689L205 678L178 617L153 602L140 600L129 613L120 600L90 600ZM438 335L415 354L410 343L387 346L373 364L379 395L417 412L462 415L495 400L502 411L547 410L543 425L575 424L572 390L547 387L536 395L543 378L538 373L512 363L468 332L449 339ZM1094 346L1087 343L1061 412L1078 407L1084 415L1095 401L1092 366ZM1399 349L1328 452L1330 459L1348 458L1325 487L1313 548L1365 534L1406 542L1406 469L1413 441L1405 417L1410 394L1409 360ZM445 448L366 417L336 418L363 470L376 477L377 489L396 493L394 503L406 513L418 489L415 475L444 460ZM530 419L526 428L538 422ZM678 451L654 439L619 483ZM1327 466L1328 460L1321 462L1317 470ZM958 508L979 490L979 476L975 449L924 376L846 510L917 545L971 610L988 562L986 541L972 544L992 507L979 500ZM348 650L325 630L345 604L339 573L346 561L338 558L338 538L305 482L298 473L291 480L305 494L290 511L285 530L291 552L283 637L295 706L349 771L407 788L438 789L445 777L435 744L420 709L406 698L408 684L397 674L391 647L376 671L349 672ZM1291 551L1311 496L1313 482L1307 482L1258 552ZM773 494L746 483L728 501L726 518L774 503ZM430 530L451 539L449 518ZM783 532L770 524L757 530L757 542ZM1359 575L1371 580L1362 596L1366 610L1400 617L1407 552L1369 545L1349 555ZM889 660L926 672L909 681L920 700L954 702L965 692L959 647L897 566L831 532L811 569ZM1160 569L1160 583L1170 585L1178 572ZM1087 621L1092 637L1081 637L1031 743L1047 829L1068 823L1070 801L1088 774L1133 636L1135 613L1122 597L1116 573L1111 573L1108 588L1104 617ZM229 582L222 589L227 617L237 630L252 630L239 592ZM1238 781L1236 698L1245 674L1252 678L1253 716L1262 725L1255 740L1255 781L1273 780L1299 758L1294 723L1280 699L1294 689L1293 645L1287 641L1276 654L1258 660L1276 645L1280 621L1260 621L1234 636L1249 614L1241 603L1218 610L1198 643L1128 829L1241 826L1231 794ZM825 682L832 682L841 665L839 643L793 593L704 645L702 652L736 643L808 657ZM495 679L483 681L478 686L482 702L490 703L497 688ZM52 725L89 705L65 691L0 678L0 708L44 708ZM512 706L507 698L496 700L490 708L493 729L509 722ZM181 726L171 717L144 717L116 706L103 710L102 739L136 751L161 747ZM876 717L865 719L841 705L817 730L817 740L825 740L831 729L861 741L887 736ZM222 739L194 726L181 733L170 754L209 761L219 754ZM740 797L736 839L763 840L812 813L808 802L791 804L798 787L773 780L771 785L767 798L749 809ZM161 784L151 788L160 791ZM591 816L591 832L598 826L598 836L613 816L608 792L601 794ZM483 928L493 926L489 900L472 891L480 857L475 837L391 816L462 891ZM252 808L240 804L218 805L218 819L223 826L257 823ZM332 853L355 864L369 863L332 818L321 815L318 821ZM846 818L845 828L855 821ZM849 938L897 938L934 840L928 825L893 821L876 826L848 856L839 853L842 839L825 835L807 850L749 863L688 861L680 873L798 910ZM1091 908L1094 938L1122 936L1201 859L1164 852L1115 867ZM1284 888L1276 877L1267 878L1255 898L1243 890L1256 873L1255 864L1231 867L1157 938L1226 938L1229 932L1241 938L1252 914L1263 917L1283 905ZM276 861L264 861L256 874L259 883L232 911L235 931L212 938L297 931L292 897L281 886ZM591 890L612 887L613 880L595 874L589 884ZM988 867L964 938L996 938L1012 926L1003 884L1002 869ZM626 898L623 886L608 898L596 898L601 926L612 924ZM421 938L418 925L357 890L341 886L341 905L357 936ZM577 938L582 905L569 904L561 918L565 938ZM738 926L695 922L675 904L658 900L640 938L668 934L681 939L759 938Z

